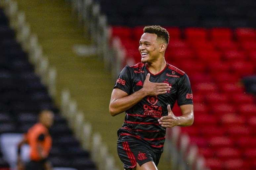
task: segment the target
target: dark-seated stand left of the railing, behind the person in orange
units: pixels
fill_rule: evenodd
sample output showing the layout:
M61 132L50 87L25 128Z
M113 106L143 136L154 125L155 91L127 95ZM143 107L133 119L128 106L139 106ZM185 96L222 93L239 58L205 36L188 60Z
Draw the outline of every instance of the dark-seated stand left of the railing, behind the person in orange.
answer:
M96 169L89 152L80 147L79 141L55 106L46 86L34 72L34 66L29 63L27 53L17 43L15 36L15 32L9 27L8 18L0 9L0 169L14 167L16 152L6 150L5 145L12 141L10 135L19 133L19 136L26 132L37 122L37 114L43 109L51 109L55 113L54 125L50 129L53 147L49 160L53 166L77 170ZM12 146L15 151L13 147L15 145ZM8 163L6 153L14 154L9 155L12 161Z

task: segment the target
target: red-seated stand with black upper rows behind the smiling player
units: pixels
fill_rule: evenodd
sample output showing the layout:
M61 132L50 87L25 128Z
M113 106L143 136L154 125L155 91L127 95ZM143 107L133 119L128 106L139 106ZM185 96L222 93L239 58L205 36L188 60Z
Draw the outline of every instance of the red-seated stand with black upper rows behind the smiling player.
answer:
M170 43L165 59L188 74L194 94L194 124L181 128L182 134L190 136L185 155L188 156L191 146L196 145L198 154L194 156L203 156L205 167L212 170L256 169L256 148L252 145L256 104L255 96L249 94L253 93L253 88L255 94L256 30L252 23L255 3L205 0L161 1L157 4L148 1L98 2L112 25L112 39L118 37L126 51L123 66L141 60L138 42L143 33L142 25L159 24L169 31ZM128 13L130 9L134 13ZM162 18L168 18L168 21ZM241 79L248 87L247 91ZM177 105L173 112L181 114ZM170 135L175 133L178 132L172 130ZM176 145L180 150L182 136L178 137ZM188 157L184 159L188 160ZM190 166L196 169L195 164L192 162Z

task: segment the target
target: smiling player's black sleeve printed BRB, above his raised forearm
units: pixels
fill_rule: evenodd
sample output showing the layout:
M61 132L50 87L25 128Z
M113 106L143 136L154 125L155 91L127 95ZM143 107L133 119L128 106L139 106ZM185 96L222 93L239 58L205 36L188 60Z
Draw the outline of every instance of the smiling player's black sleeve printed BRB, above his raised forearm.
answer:
M132 81L131 81L131 73L129 71L128 66L125 66L123 70L120 72L114 88L118 88L127 94L131 93L131 86L132 86Z

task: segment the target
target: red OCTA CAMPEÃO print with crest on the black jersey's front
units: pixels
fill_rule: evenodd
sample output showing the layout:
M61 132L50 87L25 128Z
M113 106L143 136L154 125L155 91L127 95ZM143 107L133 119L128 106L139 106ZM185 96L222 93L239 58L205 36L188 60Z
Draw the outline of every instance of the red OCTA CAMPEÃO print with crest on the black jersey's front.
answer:
M161 116L162 115L162 106L155 105L158 101L157 96L148 96L147 98L150 104L144 104L144 115L149 116Z

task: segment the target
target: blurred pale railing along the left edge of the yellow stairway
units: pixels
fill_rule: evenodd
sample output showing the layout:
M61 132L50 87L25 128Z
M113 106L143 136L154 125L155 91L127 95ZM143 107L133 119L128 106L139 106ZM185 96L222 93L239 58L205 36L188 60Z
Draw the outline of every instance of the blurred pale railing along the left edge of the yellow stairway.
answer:
M30 27L26 23L24 12L18 11L17 2L13 0L1 0L0 5L5 9L10 19L10 26L17 33L17 40L29 54L29 61L35 66L36 73L47 86L50 95L55 98L56 69L49 66L48 58L43 55L42 47L38 43L37 36L30 33ZM92 155L101 157L100 160L104 164L97 162L98 159L94 159L99 169L117 170L113 157L108 154L107 146L102 144L100 134L92 134L91 124L85 122L81 111L77 111L76 101L70 99L68 90L62 91L61 113L67 118L69 126L72 127L76 137L81 141L82 147L90 150ZM98 144L97 147L95 144Z

